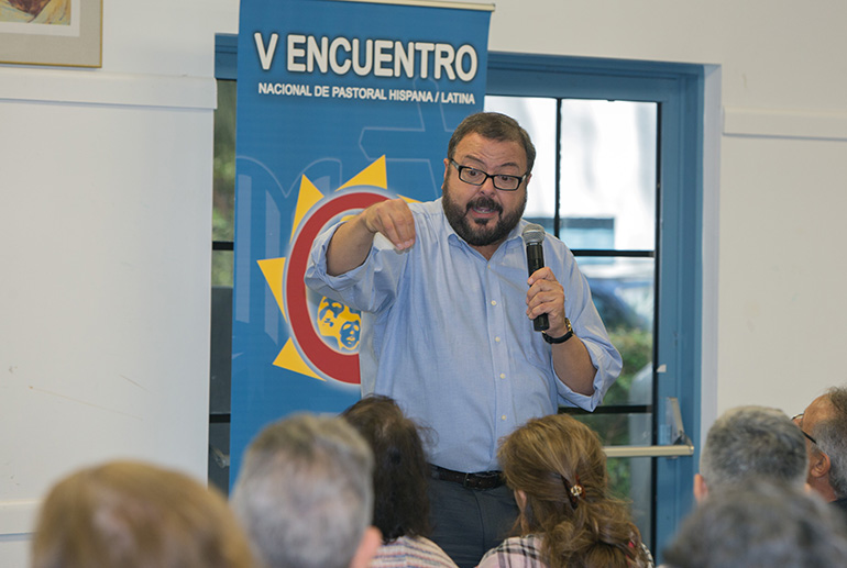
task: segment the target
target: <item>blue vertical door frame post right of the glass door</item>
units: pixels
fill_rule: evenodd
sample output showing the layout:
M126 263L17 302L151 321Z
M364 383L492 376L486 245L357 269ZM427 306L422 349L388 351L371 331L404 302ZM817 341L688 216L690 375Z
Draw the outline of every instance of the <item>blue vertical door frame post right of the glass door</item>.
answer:
M660 314L656 396L680 402L686 434L701 434L701 328L703 304L703 81L680 77L663 103L661 167ZM693 504L700 450L690 458L659 459L656 469L656 548L661 552ZM661 555L659 555L661 561Z

